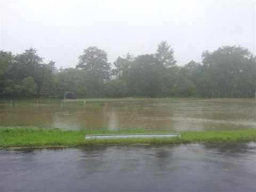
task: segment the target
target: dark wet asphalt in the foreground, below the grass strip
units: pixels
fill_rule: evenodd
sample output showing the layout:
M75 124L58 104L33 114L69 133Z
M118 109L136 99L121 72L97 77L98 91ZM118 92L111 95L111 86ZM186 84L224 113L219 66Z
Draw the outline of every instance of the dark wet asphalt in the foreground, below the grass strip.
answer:
M0 150L0 191L255 191L256 143Z

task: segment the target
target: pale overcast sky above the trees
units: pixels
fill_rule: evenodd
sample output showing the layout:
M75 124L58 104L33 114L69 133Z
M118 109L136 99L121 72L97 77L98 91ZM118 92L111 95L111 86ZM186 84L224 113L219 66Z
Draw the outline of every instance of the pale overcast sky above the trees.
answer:
M0 1L0 49L35 47L58 68L75 67L89 46L114 62L128 52L155 53L162 40L178 65L222 45L255 54L255 1Z

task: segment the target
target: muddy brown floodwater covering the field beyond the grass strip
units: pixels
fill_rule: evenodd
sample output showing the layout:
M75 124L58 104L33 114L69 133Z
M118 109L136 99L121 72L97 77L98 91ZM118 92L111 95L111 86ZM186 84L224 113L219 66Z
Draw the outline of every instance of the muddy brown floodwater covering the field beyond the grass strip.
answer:
M62 106L61 102L39 106L1 103L0 126L179 131L256 128L255 99L111 100L104 106L99 103L105 101L64 102Z

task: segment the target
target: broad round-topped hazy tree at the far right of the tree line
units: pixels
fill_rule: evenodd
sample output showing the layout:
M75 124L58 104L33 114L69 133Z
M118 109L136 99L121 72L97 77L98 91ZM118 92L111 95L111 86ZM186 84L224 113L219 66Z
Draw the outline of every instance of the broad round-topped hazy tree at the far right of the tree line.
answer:
M239 91L255 88L255 57L241 46L222 46L202 54L209 90Z

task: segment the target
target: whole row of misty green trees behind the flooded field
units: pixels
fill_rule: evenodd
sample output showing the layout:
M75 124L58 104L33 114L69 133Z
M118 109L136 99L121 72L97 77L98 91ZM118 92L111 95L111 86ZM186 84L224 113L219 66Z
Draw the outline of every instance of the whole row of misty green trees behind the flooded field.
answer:
M214 92L239 91L241 98L255 97L255 55L241 46L222 46L204 51L202 62L191 60L178 66L166 41L155 54L134 57L128 53L111 65L107 53L91 46L74 68L44 63L37 50L21 54L0 51L0 97L62 97L73 91L77 97L211 97ZM232 95L233 96L233 95Z

